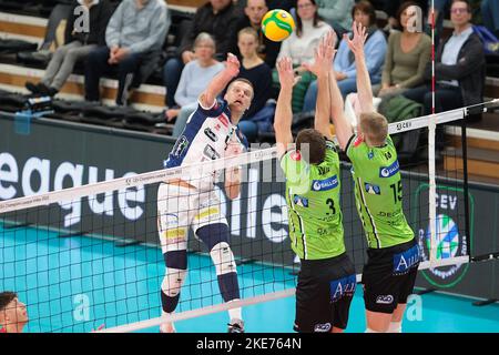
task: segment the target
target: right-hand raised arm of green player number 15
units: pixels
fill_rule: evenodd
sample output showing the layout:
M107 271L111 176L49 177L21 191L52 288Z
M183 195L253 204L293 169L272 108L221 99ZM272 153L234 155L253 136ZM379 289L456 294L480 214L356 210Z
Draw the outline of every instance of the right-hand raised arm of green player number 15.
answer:
M350 40L348 36L344 36L344 40L355 55L355 65L357 69L357 94L360 103L360 112L374 112L373 105L373 88L370 85L369 71L367 70L366 55L364 52L364 43L367 39L366 28L360 22L354 22L352 26L354 38Z

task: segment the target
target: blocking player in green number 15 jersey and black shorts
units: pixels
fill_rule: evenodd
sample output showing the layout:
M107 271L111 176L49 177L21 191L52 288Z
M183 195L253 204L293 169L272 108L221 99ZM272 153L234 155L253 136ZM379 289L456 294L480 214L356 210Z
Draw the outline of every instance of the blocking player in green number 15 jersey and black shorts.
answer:
M360 103L357 134L343 112L343 98L330 74L332 116L339 146L352 161L358 214L367 236L367 264L363 270L367 332L400 333L407 297L413 293L420 254L403 211L403 184L397 151L388 135L386 118L375 112L369 73L364 57L366 29L354 23L353 39Z

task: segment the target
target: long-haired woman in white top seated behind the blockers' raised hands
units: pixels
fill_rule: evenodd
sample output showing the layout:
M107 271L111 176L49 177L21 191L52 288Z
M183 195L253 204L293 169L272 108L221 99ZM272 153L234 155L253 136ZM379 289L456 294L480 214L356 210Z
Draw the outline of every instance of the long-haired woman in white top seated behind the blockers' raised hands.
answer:
M314 51L324 34L332 27L322 21L317 13L315 0L297 1L296 30L283 41L277 60L289 57L293 60L296 75L302 77L299 82L293 88L292 106L293 112L302 112L305 93L316 78L308 72L302 64L314 60ZM277 70L273 71L273 82L275 89L278 89L279 81Z

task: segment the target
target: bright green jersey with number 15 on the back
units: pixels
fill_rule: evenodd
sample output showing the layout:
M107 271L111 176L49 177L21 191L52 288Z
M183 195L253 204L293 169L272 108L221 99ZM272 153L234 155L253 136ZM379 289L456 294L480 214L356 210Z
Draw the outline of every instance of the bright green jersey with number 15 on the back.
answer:
M414 232L403 210L403 185L391 138L384 146L369 148L353 135L346 149L352 161L355 199L369 247L409 242Z

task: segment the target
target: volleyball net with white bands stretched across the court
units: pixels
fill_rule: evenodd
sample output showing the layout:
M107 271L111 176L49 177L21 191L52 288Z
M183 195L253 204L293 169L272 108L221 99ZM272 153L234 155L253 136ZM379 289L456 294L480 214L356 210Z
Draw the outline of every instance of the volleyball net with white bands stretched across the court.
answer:
M421 250L420 268L470 261L466 118L495 103L389 124L399 164L387 169L401 172L394 199L404 196L404 212ZM183 143L174 149L182 150ZM258 146L224 159L204 154L215 160L103 182L89 171L95 183L82 186L71 186L68 166L54 176L58 191L24 191L27 196L0 202L0 291L22 295L31 332L89 332L100 324L104 332L133 332L234 307L243 307L244 317L245 306L294 295L299 260L291 250L276 149ZM350 164L343 153L340 159L345 244L360 280L366 241ZM32 166L37 175L43 162ZM234 168L241 168L241 191L231 200L225 178ZM166 181L201 186L214 176L211 190L197 192L181 182L169 184L176 189L170 197L159 193ZM187 189L187 197L180 197L180 189ZM167 214L163 219L159 203ZM234 260L221 263L235 263L240 290L240 301L231 303L224 302L218 277L227 265L217 265L210 243L194 233L224 217ZM179 305L174 314L162 316L163 252L183 242L187 273Z

